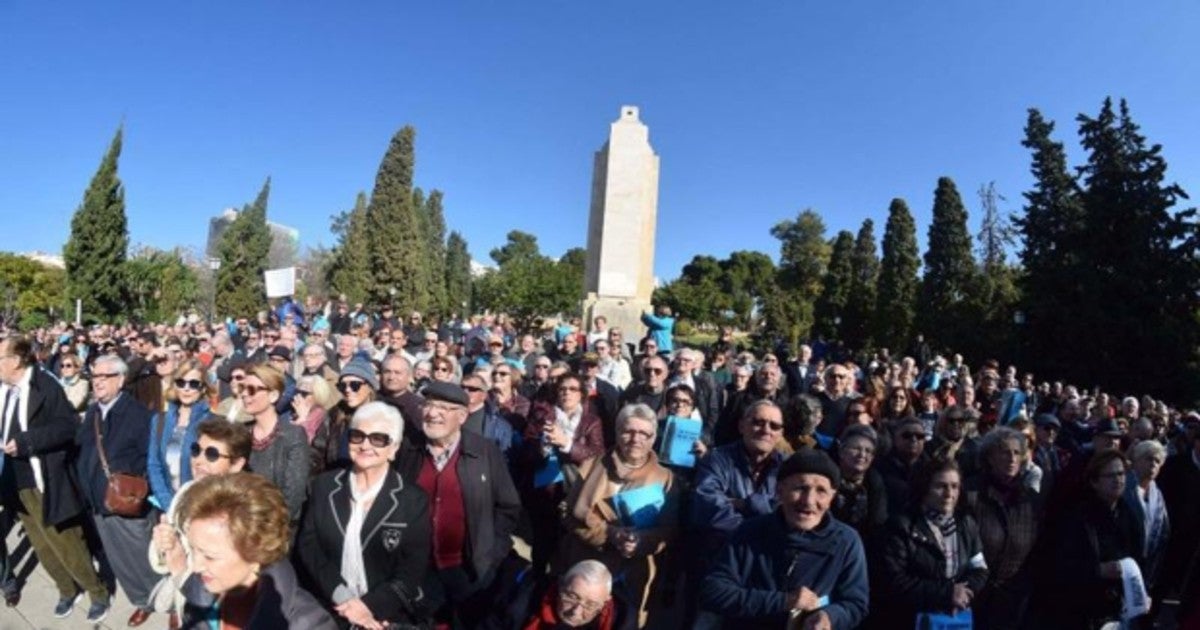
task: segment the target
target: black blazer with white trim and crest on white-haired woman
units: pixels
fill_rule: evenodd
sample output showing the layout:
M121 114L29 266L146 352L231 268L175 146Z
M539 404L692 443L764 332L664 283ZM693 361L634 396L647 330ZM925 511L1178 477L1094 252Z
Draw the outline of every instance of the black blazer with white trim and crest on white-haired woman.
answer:
M296 540L306 583L328 606L342 583L342 547L350 518L349 470L316 478L304 524ZM376 619L416 623L422 619L420 590L430 564L430 505L425 491L406 484L400 473L388 476L362 521L362 566L367 593L362 604Z

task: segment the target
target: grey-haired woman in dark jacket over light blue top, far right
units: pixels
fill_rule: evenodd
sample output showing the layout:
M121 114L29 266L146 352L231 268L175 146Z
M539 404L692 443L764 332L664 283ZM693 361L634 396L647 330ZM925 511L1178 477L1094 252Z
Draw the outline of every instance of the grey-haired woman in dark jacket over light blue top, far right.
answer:
M1144 539L1141 576L1146 581L1147 590L1154 586L1158 568L1166 552L1166 540L1171 535L1166 504L1156 482L1165 461L1166 448L1152 439L1139 442L1129 451L1130 466L1126 479L1124 499L1141 522Z

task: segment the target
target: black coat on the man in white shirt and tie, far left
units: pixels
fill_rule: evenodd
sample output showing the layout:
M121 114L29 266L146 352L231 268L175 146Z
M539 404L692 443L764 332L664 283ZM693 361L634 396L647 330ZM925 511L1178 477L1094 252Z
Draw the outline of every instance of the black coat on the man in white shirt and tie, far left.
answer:
M10 428L8 439L17 443L17 455L7 456L11 461L5 462L5 469L16 461L28 463L30 456L37 456L44 488L42 521L56 526L83 511L79 492L67 468L67 456L74 446L76 427L79 426L78 415L54 377L37 367L32 371L25 404L26 428L20 431L16 424ZM16 479L7 472L0 497L5 509L24 511L17 496Z

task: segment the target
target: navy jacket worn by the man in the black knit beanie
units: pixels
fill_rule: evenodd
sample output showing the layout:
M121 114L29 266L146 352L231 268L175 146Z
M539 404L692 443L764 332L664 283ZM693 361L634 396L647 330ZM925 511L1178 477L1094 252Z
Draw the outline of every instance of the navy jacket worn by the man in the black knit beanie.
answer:
M704 611L725 628L784 628L787 595L808 587L828 596L834 629L857 628L869 602L866 554L858 533L828 514L810 532L791 529L781 511L742 524L700 588Z

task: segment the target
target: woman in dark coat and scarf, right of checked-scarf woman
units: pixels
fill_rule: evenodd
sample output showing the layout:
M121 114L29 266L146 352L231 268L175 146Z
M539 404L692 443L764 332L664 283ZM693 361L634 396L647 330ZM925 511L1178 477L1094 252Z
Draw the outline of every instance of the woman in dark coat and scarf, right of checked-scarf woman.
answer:
M1042 502L1025 482L1028 439L996 427L979 442L978 488L964 503L979 523L988 583L977 593L974 618L985 628L1025 628L1032 594L1030 552L1042 526Z

